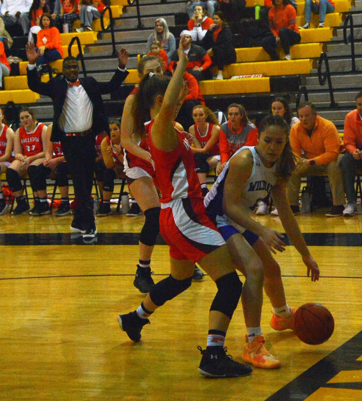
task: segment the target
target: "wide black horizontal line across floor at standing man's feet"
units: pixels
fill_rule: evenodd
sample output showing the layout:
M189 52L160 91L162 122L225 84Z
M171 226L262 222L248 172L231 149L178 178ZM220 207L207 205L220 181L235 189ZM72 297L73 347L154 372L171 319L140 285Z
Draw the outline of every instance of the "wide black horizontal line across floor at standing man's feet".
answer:
M308 246L362 246L362 233L304 233ZM140 233L98 233L94 241L83 242L81 234L73 233L24 233L0 234L0 245L138 245ZM286 245L291 245L284 234ZM166 245L161 235L156 245Z

